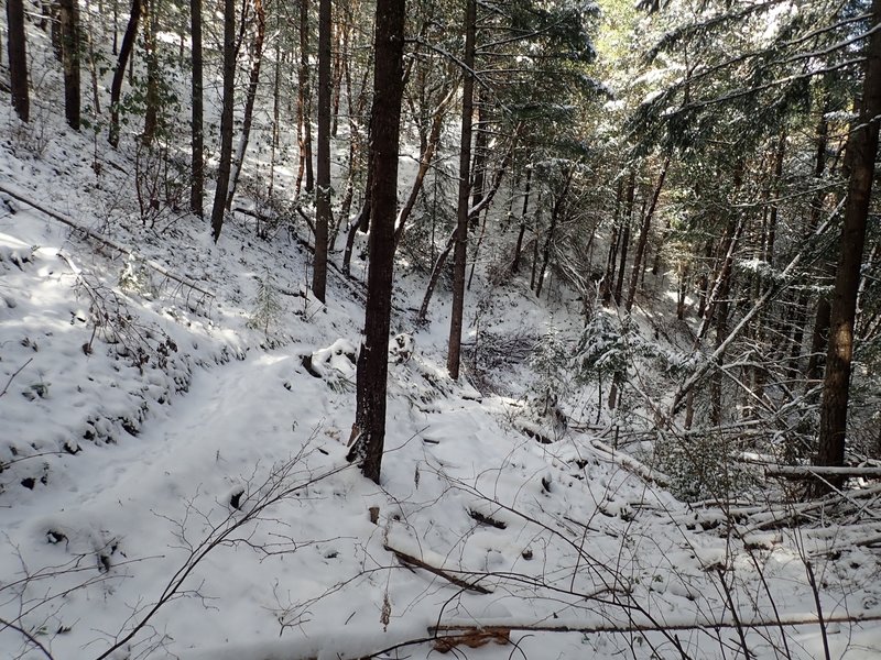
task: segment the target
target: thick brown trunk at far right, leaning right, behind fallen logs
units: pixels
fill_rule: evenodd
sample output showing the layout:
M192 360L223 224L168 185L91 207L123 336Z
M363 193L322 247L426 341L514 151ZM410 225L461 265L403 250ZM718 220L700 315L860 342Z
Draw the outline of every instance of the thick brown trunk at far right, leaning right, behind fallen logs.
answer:
M871 11L872 32L868 44L859 124L851 130L848 139L850 178L831 299L817 465L844 465L845 462L853 322L881 117L881 0L872 0ZM830 482L833 485L840 484L840 481Z

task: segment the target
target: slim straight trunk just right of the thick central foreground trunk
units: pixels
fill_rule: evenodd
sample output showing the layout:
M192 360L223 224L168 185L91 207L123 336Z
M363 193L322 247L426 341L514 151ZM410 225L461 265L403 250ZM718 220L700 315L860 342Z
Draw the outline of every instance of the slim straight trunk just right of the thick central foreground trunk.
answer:
M471 122L474 120L475 95L475 42L477 36L477 0L466 0L465 54L463 67L465 80L461 100L461 139L459 141L459 190L456 208L456 243L453 251L453 310L449 317L449 342L447 346L447 372L457 381L461 352L461 326L465 310L465 267L468 253L468 193L471 183Z

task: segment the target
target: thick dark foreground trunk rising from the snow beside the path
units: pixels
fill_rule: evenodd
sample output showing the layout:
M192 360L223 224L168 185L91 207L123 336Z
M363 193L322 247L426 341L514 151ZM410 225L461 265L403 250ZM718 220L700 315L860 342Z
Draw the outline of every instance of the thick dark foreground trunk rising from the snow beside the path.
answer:
M385 442L385 387L389 371L394 217L398 207L398 143L403 94L405 0L377 0L370 190L373 227L367 282L365 340L358 354L355 444L363 475L380 480Z

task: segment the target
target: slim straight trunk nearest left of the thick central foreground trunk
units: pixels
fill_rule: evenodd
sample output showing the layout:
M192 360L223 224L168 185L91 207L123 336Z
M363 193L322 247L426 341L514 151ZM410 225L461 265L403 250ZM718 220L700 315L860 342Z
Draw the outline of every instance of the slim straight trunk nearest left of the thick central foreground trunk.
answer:
M318 163L315 188L315 258L312 290L322 302L327 287L330 226L330 0L318 0Z

